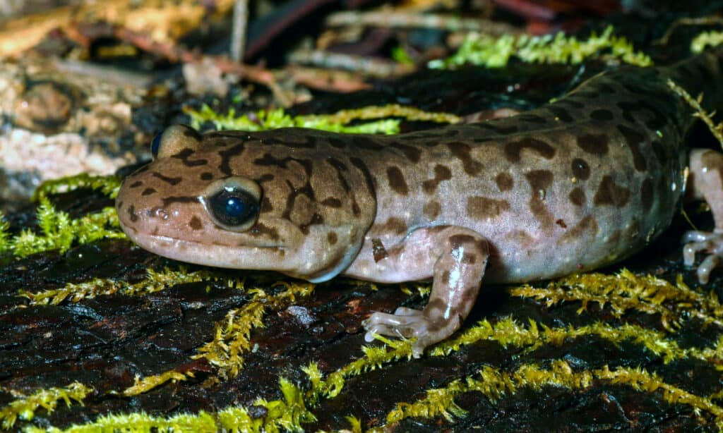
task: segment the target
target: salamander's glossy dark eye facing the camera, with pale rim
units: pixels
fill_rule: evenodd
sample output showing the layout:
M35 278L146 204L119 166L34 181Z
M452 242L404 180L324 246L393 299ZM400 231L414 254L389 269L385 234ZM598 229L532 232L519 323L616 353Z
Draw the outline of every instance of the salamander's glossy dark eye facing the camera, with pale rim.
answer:
M261 187L233 176L215 180L199 199L213 222L231 232L245 232L259 217Z

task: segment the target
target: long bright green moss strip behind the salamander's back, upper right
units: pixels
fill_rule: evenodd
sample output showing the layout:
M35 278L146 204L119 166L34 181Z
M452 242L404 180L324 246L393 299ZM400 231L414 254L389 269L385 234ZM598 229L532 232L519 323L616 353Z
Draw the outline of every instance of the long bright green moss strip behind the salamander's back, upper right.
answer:
M587 40L577 40L562 32L557 35L529 36L489 35L473 33L462 43L457 53L445 60L429 62L429 68L444 69L463 64L501 68L515 57L526 63L579 64L587 58L604 58L609 63L622 61L637 66L651 66L649 56L636 52L628 40L612 34L608 26L602 35L592 34Z

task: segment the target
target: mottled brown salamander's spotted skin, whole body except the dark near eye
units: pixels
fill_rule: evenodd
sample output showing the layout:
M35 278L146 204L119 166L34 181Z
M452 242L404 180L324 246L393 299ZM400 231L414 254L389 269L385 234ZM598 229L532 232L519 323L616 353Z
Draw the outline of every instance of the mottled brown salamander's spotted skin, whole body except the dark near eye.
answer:
M693 95L706 86L714 102L717 54L601 74L510 118L398 136L299 128L200 136L174 126L155 161L124 181L116 206L129 237L181 261L310 281L432 278L424 310L365 321L367 339L416 337L419 356L459 328L483 279L598 268L668 226L683 196L692 118L666 80ZM723 250L723 160L694 151L691 170L690 197L711 203L716 231L686 237L686 262L712 253L701 268L707 279ZM260 209L231 229L205 204L230 184Z

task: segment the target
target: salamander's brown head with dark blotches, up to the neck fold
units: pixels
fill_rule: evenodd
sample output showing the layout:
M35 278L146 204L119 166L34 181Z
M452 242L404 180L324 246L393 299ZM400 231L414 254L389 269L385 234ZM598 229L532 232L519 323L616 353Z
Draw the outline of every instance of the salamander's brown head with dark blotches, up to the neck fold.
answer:
M335 188L312 185L313 160L249 138L166 129L153 140L154 161L121 186L124 232L146 250L190 263L311 281L343 271L366 229L349 223L351 204L341 197L322 206L320 196Z

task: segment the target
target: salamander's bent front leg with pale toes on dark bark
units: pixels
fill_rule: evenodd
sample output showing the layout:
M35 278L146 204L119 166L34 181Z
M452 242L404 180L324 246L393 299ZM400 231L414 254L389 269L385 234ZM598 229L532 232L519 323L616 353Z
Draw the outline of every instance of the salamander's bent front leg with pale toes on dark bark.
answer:
M469 315L488 256L487 240L464 227L432 227L412 233L390 259L397 261L396 268L432 269L429 302L424 310L399 307L394 314L375 312L364 321L366 340L372 341L374 333L416 338L412 354L422 356L427 346L452 335Z

